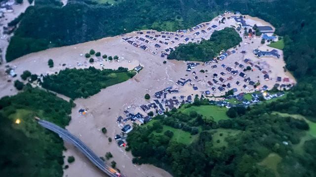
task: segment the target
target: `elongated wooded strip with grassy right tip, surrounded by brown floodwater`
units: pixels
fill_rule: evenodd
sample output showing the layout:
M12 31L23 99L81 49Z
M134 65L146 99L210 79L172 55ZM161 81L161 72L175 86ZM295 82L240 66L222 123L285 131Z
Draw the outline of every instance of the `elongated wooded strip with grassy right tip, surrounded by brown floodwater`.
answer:
M101 89L127 81L135 74L123 67L117 70L100 70L91 66L85 69L66 68L58 74L44 76L41 86L73 99L87 98Z

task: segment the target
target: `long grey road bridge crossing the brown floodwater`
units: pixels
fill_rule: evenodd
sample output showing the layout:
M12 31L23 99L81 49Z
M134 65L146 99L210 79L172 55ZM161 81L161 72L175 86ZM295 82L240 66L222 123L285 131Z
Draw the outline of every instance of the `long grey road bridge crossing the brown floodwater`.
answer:
M46 120L41 120L36 118L38 123L45 127L48 130L51 130L59 135L63 140L73 144L76 148L78 148L81 153L83 153L95 166L97 166L102 172L107 174L109 177L124 177L120 175L116 170L109 167L104 161L98 157L90 148L88 148L83 142L79 140L79 138L75 137L66 129L59 127L58 125L51 123Z

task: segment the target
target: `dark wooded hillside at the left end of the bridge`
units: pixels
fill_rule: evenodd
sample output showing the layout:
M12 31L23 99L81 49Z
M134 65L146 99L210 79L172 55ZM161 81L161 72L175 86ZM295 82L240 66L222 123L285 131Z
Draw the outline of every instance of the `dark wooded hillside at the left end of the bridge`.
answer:
M41 127L34 117L65 127L71 108L71 103L30 85L17 95L1 98L1 176L62 177L63 140ZM17 119L20 122L16 123Z

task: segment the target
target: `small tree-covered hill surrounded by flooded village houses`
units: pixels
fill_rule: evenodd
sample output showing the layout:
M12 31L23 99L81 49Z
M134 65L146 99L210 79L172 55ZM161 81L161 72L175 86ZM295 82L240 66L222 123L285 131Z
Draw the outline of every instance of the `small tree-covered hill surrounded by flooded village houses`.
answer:
M200 43L181 44L171 51L168 59L209 61L218 56L221 50L237 46L242 41L234 28L215 30L208 40L202 39Z

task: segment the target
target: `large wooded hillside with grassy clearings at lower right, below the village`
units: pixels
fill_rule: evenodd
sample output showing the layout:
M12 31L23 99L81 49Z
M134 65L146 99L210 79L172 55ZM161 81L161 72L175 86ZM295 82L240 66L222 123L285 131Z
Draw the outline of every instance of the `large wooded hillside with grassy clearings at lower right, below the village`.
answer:
M193 105L182 106L187 109ZM272 114L265 105L248 108L243 116L218 122L211 118L212 114L205 118L196 111L184 114L181 110L157 116L151 125L137 126L128 135L127 145L135 156L133 163L154 164L175 177L316 176L315 139L303 141L297 148L309 130L302 119ZM170 129L166 127L182 132L163 131ZM185 132L190 132L190 138L195 136L192 143L173 139ZM275 157L270 159L271 154ZM276 157L281 160L274 166L271 161ZM274 168L276 171L271 170Z

